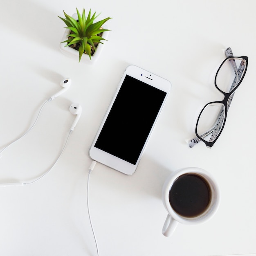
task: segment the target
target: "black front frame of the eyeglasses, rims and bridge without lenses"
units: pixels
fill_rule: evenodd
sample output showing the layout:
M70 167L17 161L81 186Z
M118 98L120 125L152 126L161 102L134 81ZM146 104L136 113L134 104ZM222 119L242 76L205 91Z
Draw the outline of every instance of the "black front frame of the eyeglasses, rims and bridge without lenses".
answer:
M228 60L232 60L232 59L236 59L236 58L240 58L240 59L243 59L246 61L246 65L245 65L245 69L244 69L244 72L243 72L243 76L240 78L238 84L234 87L233 90L231 90L230 92L223 92L222 90L220 90L220 88L218 88L218 85L216 83L216 78L218 76L218 72L220 71L222 65L224 63L226 63L226 61ZM209 102L207 103L204 108L201 110L199 116L198 116L198 120L196 122L196 126L195 126L195 134L198 138L200 138L200 140L202 140L205 145L209 148L211 148L213 146L213 144L217 141L217 139L219 138L224 126L225 126L225 123L226 123L226 119L227 119L227 111L228 111L228 102L229 102L229 98L231 97L232 94L234 94L234 92L236 91L236 89L238 88L238 86L242 83L244 77L245 77L245 74L246 74L246 71L247 71L247 66L248 66L248 57L247 56L240 56L240 57L234 57L234 56L229 56L227 57L220 65L220 67L218 68L217 72L216 72L216 76L215 76L215 79L214 79L214 84L215 84L215 87L224 95L224 99L222 101L212 101L212 102ZM213 141L206 141L205 139L202 138L202 135L199 135L198 132L197 132L197 128L198 128L198 122L200 120L200 116L202 115L202 112L204 111L204 109L210 105L210 104L213 104L213 103L221 103L223 104L224 108L225 108L225 115L224 115L224 119L223 119L223 123L222 123L222 128L221 130L218 132L218 135L216 136L216 138L213 140ZM211 133L211 132L209 132Z

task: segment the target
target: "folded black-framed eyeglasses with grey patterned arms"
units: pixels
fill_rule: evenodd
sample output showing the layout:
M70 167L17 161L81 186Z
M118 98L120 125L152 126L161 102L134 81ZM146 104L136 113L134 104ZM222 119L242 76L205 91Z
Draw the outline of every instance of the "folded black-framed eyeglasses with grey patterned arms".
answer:
M214 81L215 87L224 95L224 99L204 106L195 127L197 137L189 142L190 148L200 141L211 148L217 141L224 128L234 93L245 77L248 57L234 57L231 48L227 48L225 54L227 58L220 65Z

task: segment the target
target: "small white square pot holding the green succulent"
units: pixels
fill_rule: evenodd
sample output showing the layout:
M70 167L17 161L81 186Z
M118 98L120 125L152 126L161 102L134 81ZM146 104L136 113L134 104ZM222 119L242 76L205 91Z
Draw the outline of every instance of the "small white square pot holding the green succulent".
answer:
M78 19L76 13L74 13L74 14L72 15L72 17L73 17L74 19ZM95 22L97 22L97 21L95 20ZM105 25L105 24L103 24L102 28L103 28L103 29L109 29L108 26ZM104 32L102 33L102 36L101 36L101 37L104 38L104 39L107 39L107 38L108 38L108 34L109 34L108 32L109 32L109 31L104 31ZM61 39L61 42L67 40L69 34L70 34L70 29L65 29L64 34L63 34L63 37L62 37L62 39ZM104 42L105 42L105 40L102 40L102 43L104 43ZM95 51L94 54L91 56L92 60L90 60L90 57L88 56L88 54L85 54L85 53L84 53L83 56L81 57L81 61L80 61L80 62L94 63L95 61L97 61L97 59L99 58L99 56L100 56L100 54L101 54L101 52L102 52L103 46L104 46L104 44L102 44L102 43L99 43L99 44L97 45L96 51ZM71 48L71 47L69 47L69 46L65 47L65 45L67 45L67 43L60 43L61 52L62 52L63 54L65 54L66 56L71 57L71 58L76 58L77 61L79 61L79 51L76 50L76 49L73 49L73 48Z

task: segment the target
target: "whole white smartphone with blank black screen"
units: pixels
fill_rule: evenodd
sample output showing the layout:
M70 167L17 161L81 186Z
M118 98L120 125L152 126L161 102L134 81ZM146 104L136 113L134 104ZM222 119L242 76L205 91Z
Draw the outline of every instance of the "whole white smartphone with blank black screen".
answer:
M132 175L170 89L168 80L128 66L92 142L90 157Z

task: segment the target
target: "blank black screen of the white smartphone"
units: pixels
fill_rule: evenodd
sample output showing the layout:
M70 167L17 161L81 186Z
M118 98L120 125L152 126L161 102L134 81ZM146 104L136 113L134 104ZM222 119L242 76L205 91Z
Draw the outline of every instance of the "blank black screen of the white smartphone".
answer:
M136 164L165 97L166 92L126 75L94 146Z

